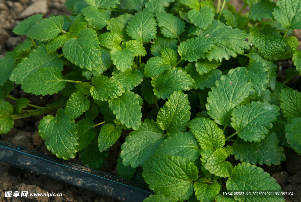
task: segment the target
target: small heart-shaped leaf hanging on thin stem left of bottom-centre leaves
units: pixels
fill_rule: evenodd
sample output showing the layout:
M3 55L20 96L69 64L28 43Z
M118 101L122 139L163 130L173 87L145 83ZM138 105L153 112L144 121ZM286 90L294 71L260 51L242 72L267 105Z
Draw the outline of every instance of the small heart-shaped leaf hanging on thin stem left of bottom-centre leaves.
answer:
M120 126L114 126L113 124L107 123L99 132L98 136L98 147L99 151L102 152L110 148L119 139L122 129Z

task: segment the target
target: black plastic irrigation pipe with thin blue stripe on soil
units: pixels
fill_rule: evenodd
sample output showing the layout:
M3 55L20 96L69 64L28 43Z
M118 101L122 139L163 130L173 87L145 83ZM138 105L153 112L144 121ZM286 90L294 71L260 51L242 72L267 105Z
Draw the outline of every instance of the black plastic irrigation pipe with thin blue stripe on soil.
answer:
M0 163L119 201L142 202L154 194L144 185L3 141L0 141Z

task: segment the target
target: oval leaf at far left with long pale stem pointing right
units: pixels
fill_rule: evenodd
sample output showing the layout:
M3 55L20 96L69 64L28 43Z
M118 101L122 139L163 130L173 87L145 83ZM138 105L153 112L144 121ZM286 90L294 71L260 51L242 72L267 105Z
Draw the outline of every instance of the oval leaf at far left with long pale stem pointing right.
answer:
M30 74L24 79L21 88L25 93L36 95L52 95L65 87L62 72L58 67L45 67Z

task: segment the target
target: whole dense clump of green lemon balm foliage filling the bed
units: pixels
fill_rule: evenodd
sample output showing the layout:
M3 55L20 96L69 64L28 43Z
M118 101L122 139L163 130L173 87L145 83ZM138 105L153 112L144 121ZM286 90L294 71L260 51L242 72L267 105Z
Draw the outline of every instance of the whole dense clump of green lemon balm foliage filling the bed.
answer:
M118 175L144 178L156 193L145 201L252 200L221 197L222 183L230 192L281 195L256 165L285 161L282 146L301 154L301 93L285 85L301 71L290 36L301 29L301 2L246 0L247 14L228 0L217 7L210 0L65 5L72 16L38 14L14 28L27 39L0 60L1 133L14 119L57 110L39 124L48 150L63 159L79 152L82 163L99 168L130 131ZM276 81L281 59L296 66L284 83ZM62 99L36 106L9 96L13 83ZM231 155L236 162L227 161Z

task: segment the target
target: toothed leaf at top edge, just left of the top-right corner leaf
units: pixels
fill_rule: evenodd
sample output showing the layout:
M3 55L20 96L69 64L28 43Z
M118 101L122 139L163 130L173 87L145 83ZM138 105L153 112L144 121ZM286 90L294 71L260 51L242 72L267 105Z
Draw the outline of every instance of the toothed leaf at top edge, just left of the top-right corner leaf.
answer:
M273 11L275 7L276 7L275 2L261 0L256 4L252 4L250 8L249 18L253 18L253 20L259 20L259 21L262 21L262 18L274 20Z

